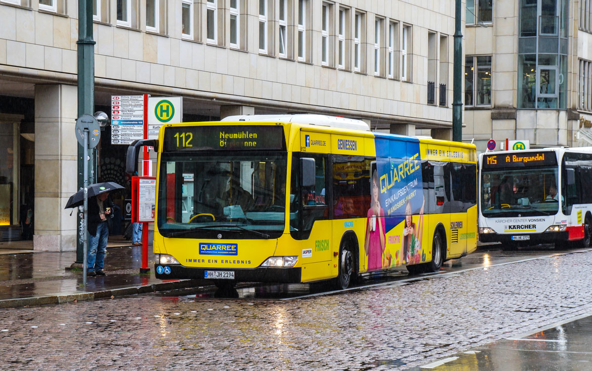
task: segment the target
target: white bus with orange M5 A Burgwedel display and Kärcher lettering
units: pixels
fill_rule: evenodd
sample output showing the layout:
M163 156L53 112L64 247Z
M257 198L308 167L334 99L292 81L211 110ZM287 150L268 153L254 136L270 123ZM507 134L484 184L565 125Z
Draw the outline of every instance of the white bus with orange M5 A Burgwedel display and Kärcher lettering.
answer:
M481 242L590 246L592 147L490 152L479 168Z

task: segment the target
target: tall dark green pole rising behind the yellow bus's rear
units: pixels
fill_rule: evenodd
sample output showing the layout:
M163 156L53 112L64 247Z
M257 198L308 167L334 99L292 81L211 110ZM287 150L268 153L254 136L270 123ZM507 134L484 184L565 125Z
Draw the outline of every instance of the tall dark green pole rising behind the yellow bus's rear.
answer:
M452 100L452 140L462 142L462 2L456 0L454 32L454 82Z

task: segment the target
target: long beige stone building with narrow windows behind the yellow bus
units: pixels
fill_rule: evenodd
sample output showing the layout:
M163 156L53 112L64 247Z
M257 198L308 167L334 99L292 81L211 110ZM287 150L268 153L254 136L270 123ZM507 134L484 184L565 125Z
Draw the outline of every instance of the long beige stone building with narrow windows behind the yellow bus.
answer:
M310 112L451 136L453 0L93 3L96 110L148 93L182 96L184 121ZM0 0L0 228L18 238L32 210L35 249L75 249L77 5ZM123 179L123 147L103 136L99 179Z

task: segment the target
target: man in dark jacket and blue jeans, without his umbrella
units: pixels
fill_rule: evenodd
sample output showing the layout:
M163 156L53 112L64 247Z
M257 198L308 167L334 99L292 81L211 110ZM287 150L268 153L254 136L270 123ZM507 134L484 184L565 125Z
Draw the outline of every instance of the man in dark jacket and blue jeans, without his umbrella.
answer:
M101 193L88 200L89 248L86 260L86 275L104 276L103 265L109 237L108 219L111 218L113 203L109 193Z

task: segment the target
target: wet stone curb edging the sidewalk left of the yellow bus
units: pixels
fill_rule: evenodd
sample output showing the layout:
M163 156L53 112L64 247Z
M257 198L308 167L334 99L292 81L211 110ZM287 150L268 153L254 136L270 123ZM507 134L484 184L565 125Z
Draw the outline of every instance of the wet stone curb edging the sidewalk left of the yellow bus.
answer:
M0 300L0 309L30 307L32 305L65 304L73 301L95 300L126 295L146 294L147 292L168 291L179 288L202 286L204 282L198 279L181 279L179 281L162 282L159 284L122 287L99 291L76 292L75 294L54 294L30 298Z

